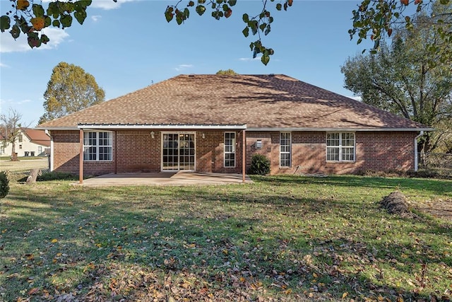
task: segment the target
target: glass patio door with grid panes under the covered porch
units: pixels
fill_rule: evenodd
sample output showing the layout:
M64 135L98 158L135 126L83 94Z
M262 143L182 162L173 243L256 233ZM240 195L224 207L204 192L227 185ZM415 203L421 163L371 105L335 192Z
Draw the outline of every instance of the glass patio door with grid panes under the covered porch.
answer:
M195 134L164 133L162 170L195 170Z

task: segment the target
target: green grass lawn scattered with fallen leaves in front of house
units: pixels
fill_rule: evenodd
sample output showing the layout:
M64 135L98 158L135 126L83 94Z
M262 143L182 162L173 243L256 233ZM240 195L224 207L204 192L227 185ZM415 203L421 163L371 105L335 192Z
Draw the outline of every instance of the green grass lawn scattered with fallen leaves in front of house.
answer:
M394 190L452 202L451 180L70 183L11 183L0 199L0 301L451 298L452 221L378 204Z

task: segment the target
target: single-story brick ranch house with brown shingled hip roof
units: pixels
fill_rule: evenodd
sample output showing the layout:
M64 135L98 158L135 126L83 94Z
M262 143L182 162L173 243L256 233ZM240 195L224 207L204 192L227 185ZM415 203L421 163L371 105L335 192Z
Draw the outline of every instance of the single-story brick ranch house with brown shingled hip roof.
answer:
M78 175L191 170L416 170L432 130L285 75L179 75L40 124L51 170ZM81 180L82 181L82 180Z

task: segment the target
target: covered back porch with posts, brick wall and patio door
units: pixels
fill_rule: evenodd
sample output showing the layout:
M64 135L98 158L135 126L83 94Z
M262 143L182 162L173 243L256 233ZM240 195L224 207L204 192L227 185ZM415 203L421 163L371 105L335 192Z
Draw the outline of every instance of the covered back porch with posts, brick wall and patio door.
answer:
M246 124L78 124L78 132L81 184L83 175L159 172L240 174L246 182Z

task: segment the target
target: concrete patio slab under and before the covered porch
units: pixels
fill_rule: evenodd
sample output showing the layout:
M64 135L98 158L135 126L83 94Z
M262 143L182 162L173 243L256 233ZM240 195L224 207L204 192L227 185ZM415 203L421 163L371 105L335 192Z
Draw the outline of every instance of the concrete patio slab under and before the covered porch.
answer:
M245 182L253 181L245 175ZM230 185L241 184L242 174L229 173L120 173L105 174L83 180L84 187L107 187L121 185Z

